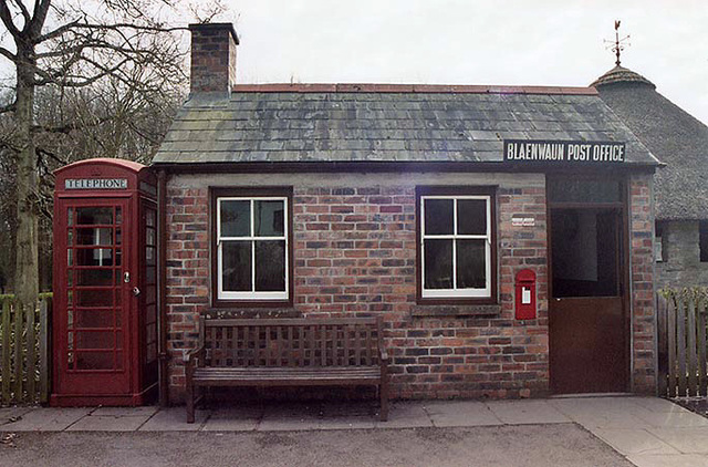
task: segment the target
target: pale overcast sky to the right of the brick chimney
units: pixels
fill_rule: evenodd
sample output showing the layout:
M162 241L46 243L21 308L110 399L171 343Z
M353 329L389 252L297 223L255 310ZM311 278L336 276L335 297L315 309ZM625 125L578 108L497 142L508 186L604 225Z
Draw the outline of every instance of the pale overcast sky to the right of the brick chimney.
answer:
M225 0L240 83L589 85L622 65L708 123L708 0ZM236 18L238 15L238 18Z

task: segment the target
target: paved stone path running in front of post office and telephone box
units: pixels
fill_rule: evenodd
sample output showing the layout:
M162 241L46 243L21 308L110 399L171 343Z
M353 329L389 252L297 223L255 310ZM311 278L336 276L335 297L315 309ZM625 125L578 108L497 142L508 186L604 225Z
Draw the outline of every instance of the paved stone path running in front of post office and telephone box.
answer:
M2 408L0 432L300 432L419 427L503 427L575 423L639 467L708 467L708 418L656 397L531 401L425 401L393 404L378 422L373 404L266 404L184 407Z

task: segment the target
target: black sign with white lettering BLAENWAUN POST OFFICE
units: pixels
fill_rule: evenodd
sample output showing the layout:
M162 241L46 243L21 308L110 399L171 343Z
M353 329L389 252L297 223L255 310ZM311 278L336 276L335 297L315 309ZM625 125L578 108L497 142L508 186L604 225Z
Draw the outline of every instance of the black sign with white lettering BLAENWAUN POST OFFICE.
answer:
M504 141L504 162L534 164L624 163L625 144L614 142Z

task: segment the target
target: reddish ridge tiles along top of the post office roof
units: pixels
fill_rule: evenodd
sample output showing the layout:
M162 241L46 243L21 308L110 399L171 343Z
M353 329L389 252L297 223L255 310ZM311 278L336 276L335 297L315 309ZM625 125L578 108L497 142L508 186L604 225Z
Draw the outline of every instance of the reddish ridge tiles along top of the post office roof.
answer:
M451 93L451 94L562 94L597 95L586 86L503 86L470 84L375 84L375 83L268 83L237 84L235 93Z

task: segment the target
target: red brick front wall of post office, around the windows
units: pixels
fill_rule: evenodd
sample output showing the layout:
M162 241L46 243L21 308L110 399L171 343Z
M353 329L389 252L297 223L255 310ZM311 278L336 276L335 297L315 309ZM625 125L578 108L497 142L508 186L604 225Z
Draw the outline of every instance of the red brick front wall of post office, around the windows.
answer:
M226 177L226 176L223 176ZM304 315L381 313L394 397L529 397L548 392L545 190L540 175L264 176L293 186L294 308ZM416 185L499 185L499 313L435 315L416 307ZM208 186L244 176L174 178L167 199L167 313L170 394L184 387L185 351L209 307ZM329 185L329 186L327 186ZM512 217L535 218L532 227ZM513 319L513 277L538 277L539 315ZM416 315L413 315L413 310ZM458 310L459 311L459 310ZM464 311L464 310L462 310ZM418 315L430 313L434 315Z

